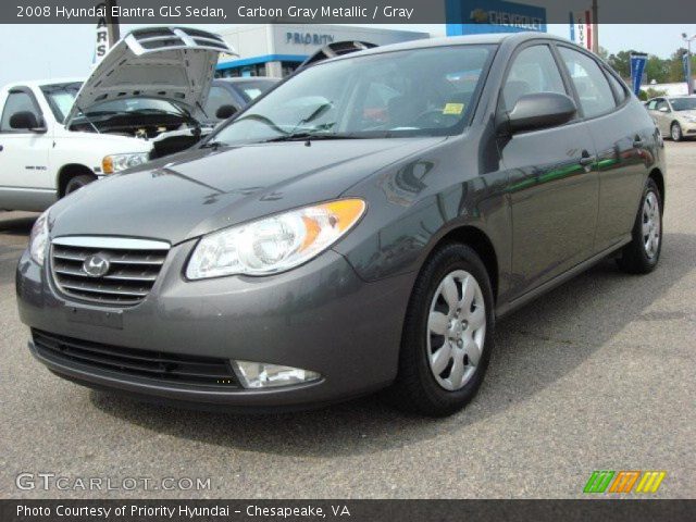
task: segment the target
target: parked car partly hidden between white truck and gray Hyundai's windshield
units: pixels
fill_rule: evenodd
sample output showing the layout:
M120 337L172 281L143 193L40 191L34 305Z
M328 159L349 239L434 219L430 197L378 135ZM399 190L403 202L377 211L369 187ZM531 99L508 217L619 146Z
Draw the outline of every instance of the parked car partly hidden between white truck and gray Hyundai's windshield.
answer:
M258 76L214 79L203 108L204 112L209 121L220 123L239 112L278 80L278 78Z

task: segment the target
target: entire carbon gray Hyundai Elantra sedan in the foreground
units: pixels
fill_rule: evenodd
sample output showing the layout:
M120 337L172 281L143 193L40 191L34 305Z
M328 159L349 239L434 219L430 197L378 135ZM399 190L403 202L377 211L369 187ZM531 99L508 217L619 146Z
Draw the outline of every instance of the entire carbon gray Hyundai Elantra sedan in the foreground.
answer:
M623 82L559 38L333 58L51 207L21 318L34 356L88 386L243 410L388 388L450 414L498 318L609 256L655 269L663 154Z

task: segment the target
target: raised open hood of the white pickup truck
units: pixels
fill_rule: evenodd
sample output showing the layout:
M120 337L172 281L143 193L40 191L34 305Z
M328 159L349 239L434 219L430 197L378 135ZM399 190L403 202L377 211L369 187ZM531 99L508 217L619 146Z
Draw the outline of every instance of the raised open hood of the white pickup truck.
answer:
M206 104L221 52L238 55L221 36L207 30L133 30L109 50L85 80L66 124L97 103L124 98L163 98L195 113Z

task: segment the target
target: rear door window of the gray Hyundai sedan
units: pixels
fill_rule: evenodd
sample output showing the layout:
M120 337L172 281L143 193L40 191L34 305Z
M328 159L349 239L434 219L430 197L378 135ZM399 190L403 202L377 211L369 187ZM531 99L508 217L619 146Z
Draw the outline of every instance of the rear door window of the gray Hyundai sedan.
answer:
M613 92L597 62L567 47L560 47L559 50L575 85L585 116L598 116L611 111L616 107Z

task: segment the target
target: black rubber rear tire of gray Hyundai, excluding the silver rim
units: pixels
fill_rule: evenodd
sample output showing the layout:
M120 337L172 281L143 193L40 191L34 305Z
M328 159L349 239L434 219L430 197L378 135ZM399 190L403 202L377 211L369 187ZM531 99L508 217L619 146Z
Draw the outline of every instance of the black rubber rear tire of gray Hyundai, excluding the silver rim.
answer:
M644 207L650 194L655 195L659 206L659 241L654 256L648 254L645 247L645 236L643 234ZM652 272L660 260L660 252L662 251L662 195L655 181L648 177L631 233L633 239L629 245L623 247L617 259L619 268L629 274L648 274Z

